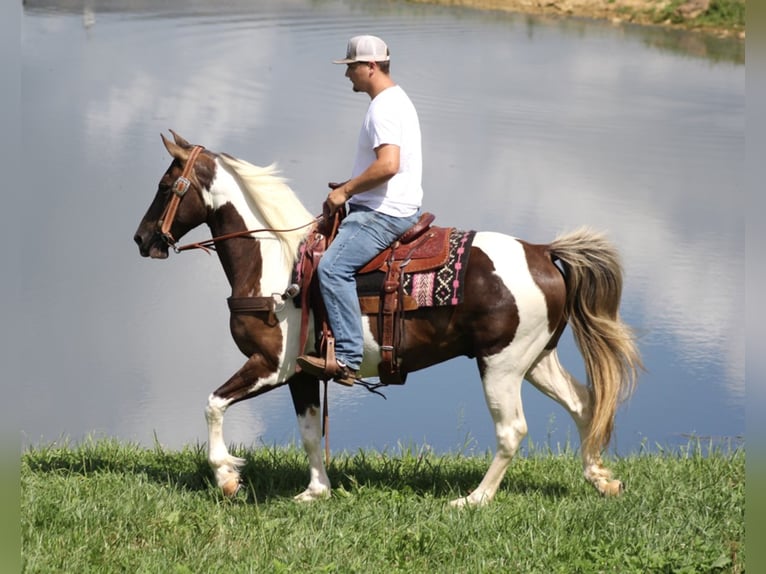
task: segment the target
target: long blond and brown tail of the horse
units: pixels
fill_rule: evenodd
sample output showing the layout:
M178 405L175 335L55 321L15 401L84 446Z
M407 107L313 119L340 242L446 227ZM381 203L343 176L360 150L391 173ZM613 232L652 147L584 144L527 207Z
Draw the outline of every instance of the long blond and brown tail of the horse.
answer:
M618 404L643 368L634 334L619 316L622 265L607 238L585 227L557 237L548 251L564 270L566 316L594 399L583 448L600 452L611 439Z

